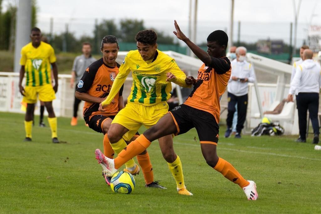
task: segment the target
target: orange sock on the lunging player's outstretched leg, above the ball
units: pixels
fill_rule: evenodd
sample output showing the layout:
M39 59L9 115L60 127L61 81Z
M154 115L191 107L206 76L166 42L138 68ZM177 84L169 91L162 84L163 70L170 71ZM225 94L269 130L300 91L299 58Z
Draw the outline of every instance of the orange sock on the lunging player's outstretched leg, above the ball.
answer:
M129 143L124 150L119 152L117 158L114 160L115 168L119 169L119 167L125 164L128 160L142 153L150 145L151 142L141 134L136 140Z

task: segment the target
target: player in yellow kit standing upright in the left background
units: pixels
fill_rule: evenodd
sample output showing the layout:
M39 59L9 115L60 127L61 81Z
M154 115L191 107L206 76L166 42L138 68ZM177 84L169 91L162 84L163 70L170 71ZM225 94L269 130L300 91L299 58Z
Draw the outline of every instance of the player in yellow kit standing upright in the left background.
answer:
M21 49L21 69L19 77L19 90L23 96L22 102L27 103L25 115L26 138L31 141L32 121L37 95L43 101L48 111L48 122L51 129L53 143L59 143L57 138L57 118L52 107L52 100L56 98L58 90L58 69L54 49L47 43L41 41L39 28L32 28L30 34L31 42ZM55 86L51 85L51 68L55 78ZM22 79L26 73L26 84L22 87Z

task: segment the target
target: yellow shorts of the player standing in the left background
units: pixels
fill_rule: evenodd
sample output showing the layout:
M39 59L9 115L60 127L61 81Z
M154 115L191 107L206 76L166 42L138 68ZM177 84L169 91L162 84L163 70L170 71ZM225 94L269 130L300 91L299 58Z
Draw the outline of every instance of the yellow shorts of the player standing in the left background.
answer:
M50 102L56 99L55 91L51 84L42 86L26 86L24 88L25 96L22 102L33 104L37 102L37 95L39 100L43 102Z

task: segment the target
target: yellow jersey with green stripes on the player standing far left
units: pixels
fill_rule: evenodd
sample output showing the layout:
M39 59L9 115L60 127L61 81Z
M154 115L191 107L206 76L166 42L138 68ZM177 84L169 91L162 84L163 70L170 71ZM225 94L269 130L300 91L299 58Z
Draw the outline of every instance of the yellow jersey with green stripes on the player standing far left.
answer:
M50 63L54 62L55 51L45 42L40 42L37 48L31 42L22 47L20 64L25 66L26 86L51 84Z

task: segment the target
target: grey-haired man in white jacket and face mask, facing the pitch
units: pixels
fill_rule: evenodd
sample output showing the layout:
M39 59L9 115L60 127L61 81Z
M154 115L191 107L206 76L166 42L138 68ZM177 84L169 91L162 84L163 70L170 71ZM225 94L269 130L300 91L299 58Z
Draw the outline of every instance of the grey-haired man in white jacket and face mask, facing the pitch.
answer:
M236 48L236 59L231 62L232 73L228 83L228 113L227 130L225 137L230 137L232 133L232 123L235 111L238 112L235 138L241 138L241 131L244 128L244 122L247 112L247 93L248 82L255 81L255 74L252 64L246 61L246 48ZM235 104L237 103L237 107Z

